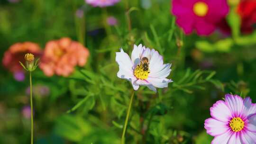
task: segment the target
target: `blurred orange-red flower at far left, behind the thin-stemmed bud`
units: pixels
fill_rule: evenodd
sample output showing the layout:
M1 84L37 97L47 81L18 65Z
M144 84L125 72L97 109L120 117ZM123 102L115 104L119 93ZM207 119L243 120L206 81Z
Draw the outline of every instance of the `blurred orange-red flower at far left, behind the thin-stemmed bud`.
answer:
M41 49L39 45L32 42L16 43L4 53L2 63L10 72L22 72L23 68L19 61L25 63L24 55L27 53L39 56Z

